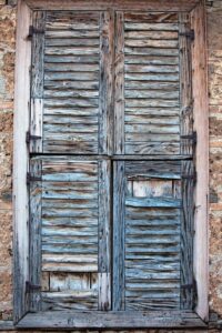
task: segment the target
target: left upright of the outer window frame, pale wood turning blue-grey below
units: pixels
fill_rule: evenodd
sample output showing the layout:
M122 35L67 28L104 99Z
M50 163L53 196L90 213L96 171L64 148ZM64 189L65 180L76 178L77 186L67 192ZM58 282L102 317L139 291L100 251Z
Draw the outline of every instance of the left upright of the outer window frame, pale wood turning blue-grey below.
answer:
M28 149L26 132L29 129L29 100L31 43L27 40L32 23L31 11L24 1L18 1L17 52L14 77L13 118L13 320L18 321L29 310L26 281L29 279L29 194L26 186Z

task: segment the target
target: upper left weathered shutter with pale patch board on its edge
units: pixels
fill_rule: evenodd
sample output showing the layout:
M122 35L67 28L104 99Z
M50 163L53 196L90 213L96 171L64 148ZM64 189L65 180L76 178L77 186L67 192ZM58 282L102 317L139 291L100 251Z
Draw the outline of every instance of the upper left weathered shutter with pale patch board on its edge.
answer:
M36 12L31 152L109 151L111 24L109 12Z

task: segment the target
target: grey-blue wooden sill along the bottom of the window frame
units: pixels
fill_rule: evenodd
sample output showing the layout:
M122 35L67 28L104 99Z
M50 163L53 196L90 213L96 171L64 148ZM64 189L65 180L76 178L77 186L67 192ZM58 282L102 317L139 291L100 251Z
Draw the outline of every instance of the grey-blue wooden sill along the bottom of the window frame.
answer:
M17 329L148 329L148 327L206 327L191 311L153 312L71 312L49 311L28 313Z

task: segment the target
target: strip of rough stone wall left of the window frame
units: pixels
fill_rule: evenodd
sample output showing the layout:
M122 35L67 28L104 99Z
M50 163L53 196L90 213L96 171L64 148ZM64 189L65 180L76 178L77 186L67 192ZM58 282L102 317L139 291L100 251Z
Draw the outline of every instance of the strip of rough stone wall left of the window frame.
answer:
M12 125L16 8L0 0L0 319L12 312Z

